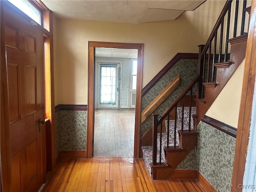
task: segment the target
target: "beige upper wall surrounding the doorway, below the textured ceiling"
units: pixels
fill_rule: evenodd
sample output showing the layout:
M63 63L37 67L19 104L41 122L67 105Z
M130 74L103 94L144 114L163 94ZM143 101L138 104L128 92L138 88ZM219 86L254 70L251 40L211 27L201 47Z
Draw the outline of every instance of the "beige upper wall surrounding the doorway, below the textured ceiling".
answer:
M143 43L144 87L178 52L198 52L197 45L206 42L224 4L206 1L176 20L142 24L58 19L55 104L87 104L88 41Z

